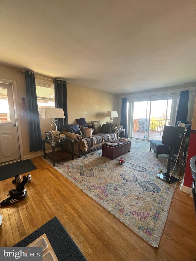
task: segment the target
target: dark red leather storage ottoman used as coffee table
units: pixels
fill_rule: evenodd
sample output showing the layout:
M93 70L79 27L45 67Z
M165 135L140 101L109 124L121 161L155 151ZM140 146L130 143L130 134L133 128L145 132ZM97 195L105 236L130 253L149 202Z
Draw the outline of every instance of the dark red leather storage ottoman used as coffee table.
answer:
M125 154L126 152L129 152L131 150L131 142L127 141L123 144L119 144L114 147L110 147L107 144L102 145L102 156L106 156L108 158L116 158L120 155Z

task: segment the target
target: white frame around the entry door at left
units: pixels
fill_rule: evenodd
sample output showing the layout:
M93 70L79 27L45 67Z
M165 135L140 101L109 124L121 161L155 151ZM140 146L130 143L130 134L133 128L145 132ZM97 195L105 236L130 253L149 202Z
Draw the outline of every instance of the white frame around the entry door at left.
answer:
M13 106L17 123L17 131L18 131L18 144L19 144L19 155L21 160L24 159L23 147L22 147L22 133L21 133L21 123L20 123L20 106L18 103L18 95L17 95L17 84L16 81L0 79L1 83L12 84L13 91Z

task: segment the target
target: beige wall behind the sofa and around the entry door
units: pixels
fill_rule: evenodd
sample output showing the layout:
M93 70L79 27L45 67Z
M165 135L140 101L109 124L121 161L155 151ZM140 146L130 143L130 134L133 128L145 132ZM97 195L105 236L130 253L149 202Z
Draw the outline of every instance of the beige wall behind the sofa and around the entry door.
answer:
M17 72L16 67L0 64L0 79L7 82L15 81L17 92L16 99L16 116L19 125L19 138L21 143L22 159L36 157L41 155L42 151L29 152L29 135L28 135L28 119L19 116L22 97L26 98L25 75ZM48 78L48 76L47 76ZM100 120L101 124L110 121L106 118L107 110L116 110L117 95L113 95L104 91L98 91L78 84L67 84L67 100L68 100L68 123L75 124L77 118L85 117L88 124L90 121ZM45 132L50 131L51 121L40 119L42 137ZM50 149L50 147L46 147Z

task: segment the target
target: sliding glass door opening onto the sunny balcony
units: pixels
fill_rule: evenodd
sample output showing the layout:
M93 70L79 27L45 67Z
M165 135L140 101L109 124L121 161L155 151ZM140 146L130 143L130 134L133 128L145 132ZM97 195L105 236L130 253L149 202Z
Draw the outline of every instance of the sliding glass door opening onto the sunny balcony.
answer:
M169 125L172 99L134 101L130 136L145 140L162 140L164 125Z

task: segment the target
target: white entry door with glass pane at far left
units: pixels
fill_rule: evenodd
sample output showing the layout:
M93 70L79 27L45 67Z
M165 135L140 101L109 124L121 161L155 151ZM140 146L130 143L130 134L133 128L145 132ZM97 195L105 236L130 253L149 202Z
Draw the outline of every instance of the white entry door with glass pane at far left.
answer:
M0 163L20 159L13 85L0 83Z

